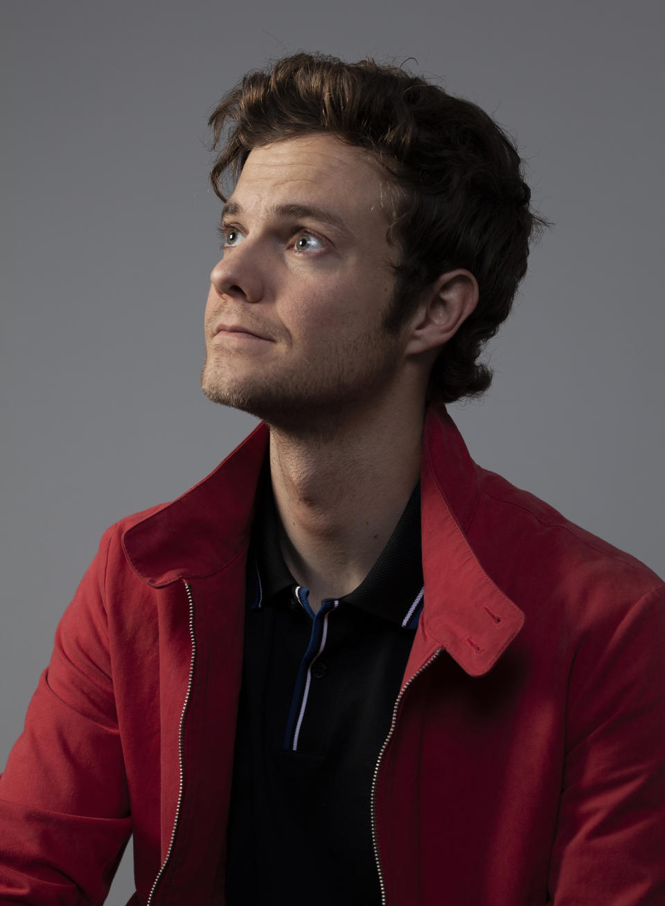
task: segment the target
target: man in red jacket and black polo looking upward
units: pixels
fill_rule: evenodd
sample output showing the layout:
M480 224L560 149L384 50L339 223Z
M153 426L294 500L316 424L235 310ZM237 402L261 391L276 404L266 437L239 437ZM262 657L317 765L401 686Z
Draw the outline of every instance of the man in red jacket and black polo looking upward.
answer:
M263 423L104 535L0 782L0 901L101 903L133 834L149 906L665 902L665 587L445 410L542 223L511 141L308 54L211 125L202 387Z

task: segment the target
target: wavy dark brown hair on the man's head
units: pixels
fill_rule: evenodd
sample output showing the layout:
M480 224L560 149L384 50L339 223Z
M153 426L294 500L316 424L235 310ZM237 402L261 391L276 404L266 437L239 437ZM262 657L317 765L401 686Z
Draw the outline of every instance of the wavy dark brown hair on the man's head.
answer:
M392 65L295 53L248 72L208 125L218 152L210 180L225 201L226 174L238 178L249 152L272 141L324 131L373 152L386 173L387 238L400 249L385 326L399 330L440 274L467 268L478 304L441 348L429 398L487 390L492 372L478 357L510 313L546 221L530 207L514 140L485 111Z

